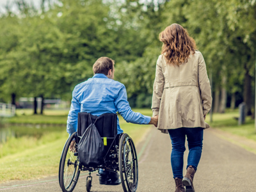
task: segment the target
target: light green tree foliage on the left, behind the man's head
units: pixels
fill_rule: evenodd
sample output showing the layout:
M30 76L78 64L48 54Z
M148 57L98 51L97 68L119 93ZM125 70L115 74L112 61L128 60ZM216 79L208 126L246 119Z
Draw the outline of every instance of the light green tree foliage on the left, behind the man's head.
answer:
M63 0L47 12L29 6L20 12L0 18L4 99L11 93L70 99L74 86L93 76L97 58L108 56L118 65L143 53L145 43L136 43L141 40L137 31L126 28L102 1Z

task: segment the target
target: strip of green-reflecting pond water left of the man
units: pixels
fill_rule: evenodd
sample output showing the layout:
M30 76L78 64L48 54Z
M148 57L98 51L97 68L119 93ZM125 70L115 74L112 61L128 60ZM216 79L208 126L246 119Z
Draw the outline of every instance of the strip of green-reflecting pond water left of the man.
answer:
M47 125L26 125L26 126L9 126L0 127L0 143L5 143L10 138L19 138L29 136L36 139L41 138L44 134L50 132L65 131L63 126L47 126Z

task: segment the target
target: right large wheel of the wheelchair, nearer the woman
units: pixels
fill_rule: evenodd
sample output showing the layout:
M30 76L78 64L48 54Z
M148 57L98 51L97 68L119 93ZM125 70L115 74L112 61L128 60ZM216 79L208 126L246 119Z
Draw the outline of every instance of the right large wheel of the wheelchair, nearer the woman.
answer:
M122 134L119 142L118 164L124 192L134 192L138 188L138 159L132 139Z

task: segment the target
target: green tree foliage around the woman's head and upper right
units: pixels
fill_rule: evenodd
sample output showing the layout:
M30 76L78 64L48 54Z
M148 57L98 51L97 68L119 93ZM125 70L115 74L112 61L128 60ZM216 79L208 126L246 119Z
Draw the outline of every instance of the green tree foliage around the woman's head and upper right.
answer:
M141 33L151 30L154 35L158 35L172 23L181 24L195 38L198 49L204 55L207 70L212 73L214 88L225 87L229 94L243 92L246 71L249 71L251 77L255 76L256 29L253 24L256 22L256 3L236 0L211 0L204 3L199 0L173 0L159 4L163 9L153 12L148 9L147 14L143 15L143 22L152 19L150 13L161 17L155 17L157 22L152 20L151 26L145 24ZM127 86L130 96L152 93L154 67L161 48L157 38L151 37L150 40L143 57L131 62L134 68L127 67L127 77L122 76L125 84L134 85L131 88ZM221 83L222 77L227 77L227 83ZM134 82L134 79L138 82Z

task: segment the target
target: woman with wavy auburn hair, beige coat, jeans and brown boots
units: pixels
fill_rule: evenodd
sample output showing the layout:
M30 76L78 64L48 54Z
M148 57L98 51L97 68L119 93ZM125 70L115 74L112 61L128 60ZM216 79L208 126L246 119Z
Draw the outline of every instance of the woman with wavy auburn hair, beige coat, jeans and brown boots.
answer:
M156 64L152 99L153 115L159 115L157 129L170 134L171 163L175 192L195 192L193 178L202 154L205 116L211 109L211 86L204 57L195 40L179 24L159 35L162 53ZM188 140L187 173L183 177L185 140Z

